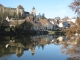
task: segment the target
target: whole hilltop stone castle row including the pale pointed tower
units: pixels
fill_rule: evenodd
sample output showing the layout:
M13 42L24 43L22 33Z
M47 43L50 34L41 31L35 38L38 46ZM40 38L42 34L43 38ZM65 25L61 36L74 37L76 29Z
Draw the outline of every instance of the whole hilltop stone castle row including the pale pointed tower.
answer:
M36 9L33 7L32 8L32 11L29 13L29 12L25 12L24 11L24 8L21 6L21 5L18 5L17 8L11 8L11 7L4 7L2 4L0 4L0 12L9 12L11 14L16 14L17 16L24 16L26 17L27 15L29 14L33 14L33 15L36 15Z

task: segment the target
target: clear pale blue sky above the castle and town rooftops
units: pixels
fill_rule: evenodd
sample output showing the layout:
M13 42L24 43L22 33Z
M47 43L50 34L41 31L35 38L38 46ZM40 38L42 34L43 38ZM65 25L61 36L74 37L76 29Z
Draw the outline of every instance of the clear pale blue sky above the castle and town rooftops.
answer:
M36 15L44 13L47 18L68 16L69 18L75 17L76 14L68 5L73 0L0 0L0 4L5 7L16 8L22 5L24 10L30 12L33 7L36 9Z

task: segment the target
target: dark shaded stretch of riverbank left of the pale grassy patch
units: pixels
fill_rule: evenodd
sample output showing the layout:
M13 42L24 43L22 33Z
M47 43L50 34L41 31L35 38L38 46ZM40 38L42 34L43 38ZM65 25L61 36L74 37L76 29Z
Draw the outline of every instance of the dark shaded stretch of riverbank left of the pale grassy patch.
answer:
M48 34L47 31L34 31L34 30L27 30L27 31L3 31L0 32L0 36L7 36L7 35L46 35Z

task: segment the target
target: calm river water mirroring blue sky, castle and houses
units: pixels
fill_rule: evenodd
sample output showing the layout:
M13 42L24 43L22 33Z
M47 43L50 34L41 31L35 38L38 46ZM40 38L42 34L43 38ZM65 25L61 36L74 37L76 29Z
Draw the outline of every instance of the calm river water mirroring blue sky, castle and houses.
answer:
M70 60L62 53L65 36L1 36L0 60Z

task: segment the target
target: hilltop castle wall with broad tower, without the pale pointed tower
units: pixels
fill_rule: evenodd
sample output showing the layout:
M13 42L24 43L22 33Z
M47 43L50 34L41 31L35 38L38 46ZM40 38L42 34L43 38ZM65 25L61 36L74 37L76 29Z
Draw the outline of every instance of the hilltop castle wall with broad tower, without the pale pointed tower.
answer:
M9 13L15 13L17 16L24 14L24 8L19 5L17 8L11 8L11 7L5 7L2 4L0 4L0 12L9 12Z

